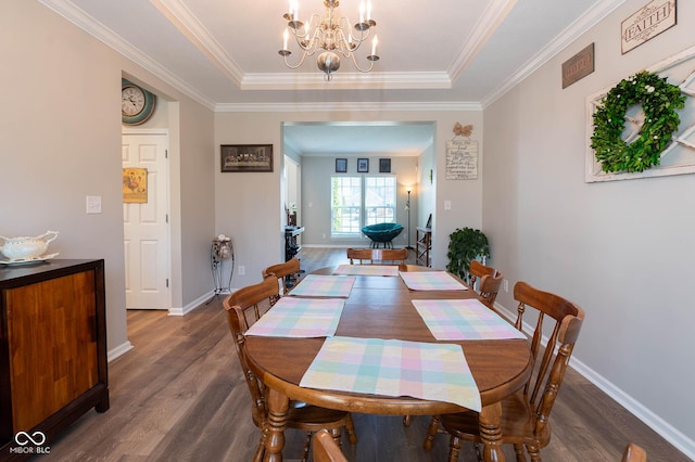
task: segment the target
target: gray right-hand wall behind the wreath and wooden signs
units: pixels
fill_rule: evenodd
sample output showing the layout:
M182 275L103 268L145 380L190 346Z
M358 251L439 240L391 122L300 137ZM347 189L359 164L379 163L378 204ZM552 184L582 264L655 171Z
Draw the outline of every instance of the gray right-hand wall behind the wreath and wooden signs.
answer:
M483 230L511 283L585 309L572 364L695 457L694 177L584 182L586 97L695 44L695 2L680 1L675 27L622 55L620 23L645 3L626 2L485 108ZM595 72L563 90L561 63L591 42ZM511 292L497 301L515 309Z

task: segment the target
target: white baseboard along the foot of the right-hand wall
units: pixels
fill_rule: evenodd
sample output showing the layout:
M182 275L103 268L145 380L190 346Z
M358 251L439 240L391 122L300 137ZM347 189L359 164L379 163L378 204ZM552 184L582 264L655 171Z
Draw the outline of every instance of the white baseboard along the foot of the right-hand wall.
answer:
M511 322L516 321L516 310L508 310L497 303L495 303L495 309ZM523 331L528 334L529 332L532 332L532 328L528 324L525 324ZM543 345L547 345L547 337L544 336L542 343ZM695 441L693 439L685 436L682 432L680 432L678 428L674 428L671 424L666 422L656 413L652 412L652 410L646 408L640 401L618 388L614 383L606 380L606 377L589 368L576 356L572 356L572 358L570 359L570 367L589 382L596 385L610 398L616 400L616 402L618 402L620 406L626 408L630 413L644 422L647 426L649 426L649 428L658 433L664 439L673 445L678 450L683 452L691 460L695 460Z

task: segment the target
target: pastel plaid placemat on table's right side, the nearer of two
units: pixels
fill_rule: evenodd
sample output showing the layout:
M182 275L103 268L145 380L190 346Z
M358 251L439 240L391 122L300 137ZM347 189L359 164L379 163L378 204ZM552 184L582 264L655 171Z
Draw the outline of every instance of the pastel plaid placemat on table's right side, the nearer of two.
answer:
M477 299L412 301L438 341L526 338Z

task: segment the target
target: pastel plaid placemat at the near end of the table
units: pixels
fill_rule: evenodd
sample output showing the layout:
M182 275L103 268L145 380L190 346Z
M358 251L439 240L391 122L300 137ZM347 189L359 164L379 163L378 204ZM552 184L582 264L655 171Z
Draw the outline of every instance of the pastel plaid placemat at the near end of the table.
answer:
M480 393L458 345L329 337L300 386L454 402L480 411Z

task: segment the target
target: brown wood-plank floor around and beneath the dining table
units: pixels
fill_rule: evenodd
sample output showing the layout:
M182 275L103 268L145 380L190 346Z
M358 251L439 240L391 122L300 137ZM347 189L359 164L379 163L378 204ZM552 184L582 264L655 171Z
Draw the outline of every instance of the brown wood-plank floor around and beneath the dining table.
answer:
M305 248L302 268L345 262L344 249ZM591 310L587 310L591 316ZM233 350L222 300L178 318L163 311L128 311L134 349L109 364L111 409L80 418L41 461L250 461L258 438L250 396ZM580 342L582 338L580 337ZM427 452L428 418L356 414L359 442L343 442L350 461L444 461L448 438ZM545 461L619 461L630 441L649 461L688 461L664 438L570 370L551 418ZM286 460L301 457L304 435L288 431ZM505 448L508 461L514 451ZM37 459L38 460L38 459ZM459 460L475 461L465 446Z

